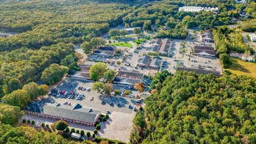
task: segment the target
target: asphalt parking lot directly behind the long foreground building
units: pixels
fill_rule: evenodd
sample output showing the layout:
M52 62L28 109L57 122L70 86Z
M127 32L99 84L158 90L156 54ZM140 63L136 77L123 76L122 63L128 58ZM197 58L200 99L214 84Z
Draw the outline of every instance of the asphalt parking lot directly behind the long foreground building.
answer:
M56 90L60 90L60 92L66 91L68 96L64 94L60 94L60 96L50 96L50 98L54 99L57 103L71 103L71 105L75 105L76 103L81 104L85 108L92 108L101 111L101 113L105 113L107 110L111 112L119 111L122 113L132 113L134 107L137 105L136 96L139 94L135 90L130 90L128 86L117 86L113 85L114 90L119 89L120 92L124 92L125 90L130 90L133 98L126 96L104 96L103 94L98 94L98 92L94 90L88 91L88 88L92 88L93 82L79 80L79 79L71 79L67 78L65 81L60 82L58 86L56 86ZM86 90L79 90L79 86L82 88L86 88ZM71 94L72 92L72 94ZM69 97L73 94L76 94L73 98ZM81 94L81 99L76 99L77 94ZM130 107L129 107L130 105Z

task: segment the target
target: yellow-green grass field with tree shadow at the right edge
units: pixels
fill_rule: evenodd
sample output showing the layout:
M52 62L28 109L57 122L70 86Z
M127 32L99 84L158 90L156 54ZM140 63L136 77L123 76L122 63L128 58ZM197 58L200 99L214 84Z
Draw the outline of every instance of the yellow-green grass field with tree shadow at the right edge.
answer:
M256 78L256 63L244 62L238 58L230 58L232 65L228 69L236 75L249 75Z

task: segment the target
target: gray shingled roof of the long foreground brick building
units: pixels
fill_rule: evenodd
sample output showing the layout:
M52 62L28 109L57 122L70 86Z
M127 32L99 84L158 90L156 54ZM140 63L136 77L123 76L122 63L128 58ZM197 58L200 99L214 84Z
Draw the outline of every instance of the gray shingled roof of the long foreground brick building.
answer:
M94 123L100 111L82 108L81 105L64 105L56 103L38 103L31 102L27 105L26 111L33 111L43 113L45 115L52 115L54 117L62 117L72 120L79 120L82 122Z

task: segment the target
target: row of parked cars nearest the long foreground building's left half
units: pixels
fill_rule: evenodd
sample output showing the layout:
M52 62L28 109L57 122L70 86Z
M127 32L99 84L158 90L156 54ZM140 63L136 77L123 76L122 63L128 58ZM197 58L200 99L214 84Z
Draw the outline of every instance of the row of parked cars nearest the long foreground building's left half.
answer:
M48 96L54 96L56 98L69 98L69 99L77 99L81 100L84 95L78 94L77 92L67 92L66 90L56 90L52 89L48 92Z

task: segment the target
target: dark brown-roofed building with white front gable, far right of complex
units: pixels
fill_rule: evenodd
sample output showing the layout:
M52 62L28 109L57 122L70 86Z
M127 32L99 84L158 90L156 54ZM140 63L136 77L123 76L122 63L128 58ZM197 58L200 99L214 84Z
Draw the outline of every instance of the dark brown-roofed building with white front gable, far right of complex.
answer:
M216 52L211 46L194 46L194 55L196 56L216 56Z

